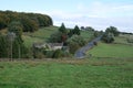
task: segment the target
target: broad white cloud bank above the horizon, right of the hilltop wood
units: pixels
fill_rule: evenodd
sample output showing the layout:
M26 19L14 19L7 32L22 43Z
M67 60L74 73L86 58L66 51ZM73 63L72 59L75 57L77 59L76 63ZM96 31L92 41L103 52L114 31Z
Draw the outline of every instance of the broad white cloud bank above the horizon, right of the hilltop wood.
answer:
M78 3L74 12L52 10L48 13L52 16L54 25L63 22L68 28L92 26L95 30L105 30L110 25L120 31L133 32L133 4L112 4L92 2L91 4Z

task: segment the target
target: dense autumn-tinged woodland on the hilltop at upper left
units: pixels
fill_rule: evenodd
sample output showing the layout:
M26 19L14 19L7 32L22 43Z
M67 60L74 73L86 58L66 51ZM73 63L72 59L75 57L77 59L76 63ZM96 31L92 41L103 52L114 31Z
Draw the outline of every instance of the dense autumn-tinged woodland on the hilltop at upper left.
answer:
M0 11L0 30L8 28L13 21L19 21L23 25L23 32L33 32L41 26L53 24L52 19L47 14Z

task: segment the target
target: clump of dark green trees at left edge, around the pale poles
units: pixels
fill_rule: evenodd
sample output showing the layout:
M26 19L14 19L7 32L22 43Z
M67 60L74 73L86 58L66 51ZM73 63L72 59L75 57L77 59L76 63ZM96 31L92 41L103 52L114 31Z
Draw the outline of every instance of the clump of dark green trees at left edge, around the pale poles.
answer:
M23 58L28 57L28 50L22 41L22 25L11 22L7 34L0 34L0 57Z

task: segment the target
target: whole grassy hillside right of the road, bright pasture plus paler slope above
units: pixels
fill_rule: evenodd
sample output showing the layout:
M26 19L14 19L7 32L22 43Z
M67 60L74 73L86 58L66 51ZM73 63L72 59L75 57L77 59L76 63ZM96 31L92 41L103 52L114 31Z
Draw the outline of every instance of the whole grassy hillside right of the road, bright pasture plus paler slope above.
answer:
M113 44L105 44L100 42L98 46L89 51L86 54L91 54L94 57L114 57L114 58L132 58L133 57L133 44L127 43L129 35L120 35L115 37Z

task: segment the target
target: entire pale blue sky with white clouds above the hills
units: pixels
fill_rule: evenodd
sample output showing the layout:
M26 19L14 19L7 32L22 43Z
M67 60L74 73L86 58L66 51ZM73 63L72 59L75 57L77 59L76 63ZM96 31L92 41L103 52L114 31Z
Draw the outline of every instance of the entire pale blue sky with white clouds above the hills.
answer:
M58 26L115 26L133 33L133 0L0 0L0 10L49 14Z

